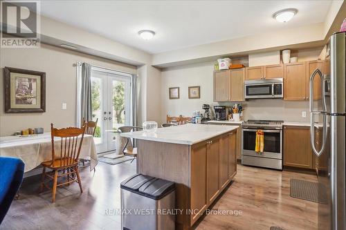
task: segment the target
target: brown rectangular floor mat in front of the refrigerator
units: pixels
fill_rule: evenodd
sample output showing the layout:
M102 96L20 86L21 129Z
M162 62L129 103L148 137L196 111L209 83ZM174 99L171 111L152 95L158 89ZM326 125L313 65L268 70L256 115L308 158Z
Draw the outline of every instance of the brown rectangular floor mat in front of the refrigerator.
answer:
M326 189L323 184L306 180L291 179L290 195L293 198L327 203Z

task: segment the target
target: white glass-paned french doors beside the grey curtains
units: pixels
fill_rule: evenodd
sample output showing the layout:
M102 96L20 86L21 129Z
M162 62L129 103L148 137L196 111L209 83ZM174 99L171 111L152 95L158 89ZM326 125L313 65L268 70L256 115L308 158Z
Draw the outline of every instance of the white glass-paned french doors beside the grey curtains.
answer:
M131 125L131 78L91 68L91 101L97 153L116 150L120 126Z

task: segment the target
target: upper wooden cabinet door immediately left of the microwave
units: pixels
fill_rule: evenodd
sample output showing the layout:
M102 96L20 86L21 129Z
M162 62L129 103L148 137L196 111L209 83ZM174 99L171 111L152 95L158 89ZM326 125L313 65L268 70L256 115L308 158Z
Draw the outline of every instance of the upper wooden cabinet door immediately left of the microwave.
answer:
M230 102L243 102L245 68L230 70Z

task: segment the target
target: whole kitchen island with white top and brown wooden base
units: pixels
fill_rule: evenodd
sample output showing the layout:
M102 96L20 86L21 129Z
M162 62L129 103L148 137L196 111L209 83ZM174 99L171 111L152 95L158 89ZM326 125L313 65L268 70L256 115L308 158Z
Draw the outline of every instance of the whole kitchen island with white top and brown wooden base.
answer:
M138 140L138 173L176 182L176 229L190 229L237 174L237 128L185 124L121 134Z

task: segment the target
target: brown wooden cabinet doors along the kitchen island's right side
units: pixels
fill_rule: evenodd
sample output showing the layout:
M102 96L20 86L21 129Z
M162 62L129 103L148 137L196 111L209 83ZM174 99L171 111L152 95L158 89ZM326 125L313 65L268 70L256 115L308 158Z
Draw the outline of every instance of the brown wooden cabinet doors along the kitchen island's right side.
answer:
M191 146L191 225L237 174L237 130Z

